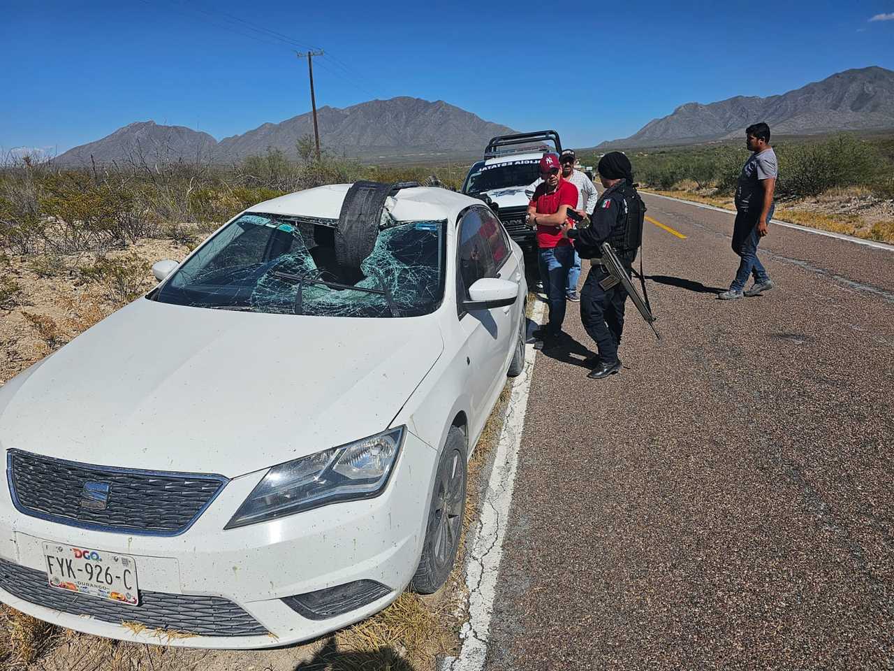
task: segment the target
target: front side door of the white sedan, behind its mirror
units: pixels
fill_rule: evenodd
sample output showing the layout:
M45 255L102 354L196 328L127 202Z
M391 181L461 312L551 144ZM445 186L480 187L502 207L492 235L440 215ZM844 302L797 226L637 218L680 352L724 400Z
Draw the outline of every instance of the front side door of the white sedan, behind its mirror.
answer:
M499 242L493 240L496 217L484 207L468 208L460 218L457 251L457 305L460 327L465 337L468 358L467 389L470 395L472 435L477 436L487 419L496 396L505 384L504 364L510 349L513 327L513 306L492 310L465 310L462 302L468 300L468 287L482 277L497 277L509 272L512 254L508 244L501 251ZM499 221L495 221L497 234L502 235ZM494 251L497 259L494 259ZM518 261L515 261L518 272ZM510 279L510 276L505 277ZM517 326L517 322L516 322Z

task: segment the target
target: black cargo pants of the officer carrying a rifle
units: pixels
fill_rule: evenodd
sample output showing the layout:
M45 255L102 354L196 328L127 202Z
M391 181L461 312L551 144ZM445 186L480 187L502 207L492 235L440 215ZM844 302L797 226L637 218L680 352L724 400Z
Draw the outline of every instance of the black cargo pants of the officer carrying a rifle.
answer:
M590 268L580 292L580 320L586 333L596 341L601 363L618 361L620 335L624 330L624 303L627 302L627 290L622 285L614 285L606 291L599 284L608 276L603 266Z

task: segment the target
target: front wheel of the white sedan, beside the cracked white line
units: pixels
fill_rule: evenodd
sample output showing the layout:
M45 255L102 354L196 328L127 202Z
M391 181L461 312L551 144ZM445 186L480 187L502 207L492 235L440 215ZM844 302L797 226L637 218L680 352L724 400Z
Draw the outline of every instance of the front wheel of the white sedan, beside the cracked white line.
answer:
M453 570L466 509L466 465L466 435L452 427L434 475L422 556L409 582L419 594L434 594Z

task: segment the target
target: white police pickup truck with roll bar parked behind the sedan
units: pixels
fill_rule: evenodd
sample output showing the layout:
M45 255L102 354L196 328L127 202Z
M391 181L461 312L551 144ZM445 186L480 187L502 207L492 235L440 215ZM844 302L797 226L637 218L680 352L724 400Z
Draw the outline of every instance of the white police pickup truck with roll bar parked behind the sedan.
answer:
M552 142L550 147L546 142ZM499 135L487 143L484 160L477 161L466 175L462 192L484 200L500 217L510 237L527 251L536 248L534 230L525 223L527 204L540 176L544 154L561 154L555 131Z

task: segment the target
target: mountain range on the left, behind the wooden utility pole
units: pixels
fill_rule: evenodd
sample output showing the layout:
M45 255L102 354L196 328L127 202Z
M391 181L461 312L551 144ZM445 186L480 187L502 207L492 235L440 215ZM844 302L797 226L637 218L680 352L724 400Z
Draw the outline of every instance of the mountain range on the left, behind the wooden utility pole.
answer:
M462 152L484 149L495 135L514 132L508 126L487 122L460 107L421 98L370 100L339 109L324 106L316 111L320 144L327 151L350 156L394 153ZM89 165L127 161L135 154L153 160L197 157L229 163L263 154L268 148L297 155L300 138L313 135L311 113L281 123L223 138L184 126L165 126L153 121L131 123L101 140L69 149L55 158L59 165Z

